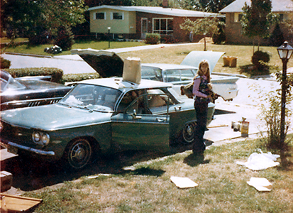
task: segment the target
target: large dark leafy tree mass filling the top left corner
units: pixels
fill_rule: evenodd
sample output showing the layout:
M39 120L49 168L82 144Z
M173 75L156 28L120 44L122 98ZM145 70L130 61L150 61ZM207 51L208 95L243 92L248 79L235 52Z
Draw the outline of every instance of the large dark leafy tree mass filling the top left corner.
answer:
M22 35L35 44L43 43L39 37L55 36L59 26L75 26L85 21L83 0L2 1L2 26L11 32L12 38Z

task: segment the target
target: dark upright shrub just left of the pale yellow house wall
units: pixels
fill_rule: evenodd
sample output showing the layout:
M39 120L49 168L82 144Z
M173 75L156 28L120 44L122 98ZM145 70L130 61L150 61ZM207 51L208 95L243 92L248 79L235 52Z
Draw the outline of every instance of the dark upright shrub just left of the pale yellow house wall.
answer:
M63 51L70 50L74 44L74 35L70 26L60 26L55 40L55 45L60 46Z

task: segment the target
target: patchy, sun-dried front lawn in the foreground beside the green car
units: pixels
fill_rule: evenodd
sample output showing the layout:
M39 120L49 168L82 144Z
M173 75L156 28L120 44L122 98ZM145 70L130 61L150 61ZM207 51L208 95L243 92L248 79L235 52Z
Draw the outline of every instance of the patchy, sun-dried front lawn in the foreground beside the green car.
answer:
M292 212L292 163L260 171L236 164L247 161L256 148L267 152L260 140L243 139L211 146L204 158L192 151L114 155L95 162L79 178L66 177L59 185L25 195L43 199L35 212ZM189 178L198 186L179 189L171 176ZM272 191L249 186L253 177L266 178Z

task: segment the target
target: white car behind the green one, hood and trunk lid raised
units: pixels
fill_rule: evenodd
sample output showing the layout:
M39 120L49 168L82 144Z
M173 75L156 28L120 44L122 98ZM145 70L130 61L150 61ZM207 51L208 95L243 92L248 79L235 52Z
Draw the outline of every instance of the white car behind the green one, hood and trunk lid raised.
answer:
M85 62L98 72L101 77L122 77L123 59L114 52L107 50L71 50L72 54L78 54ZM223 55L223 52L192 51L182 61L181 65L175 64L141 64L141 78L170 82L175 85L175 91L180 95L180 87L192 82L197 74L197 66L201 60L208 60L211 72L211 83L216 97L222 97L225 101L231 101L238 94L236 82L239 77L225 73L214 73L214 67ZM186 97L186 96L184 96Z

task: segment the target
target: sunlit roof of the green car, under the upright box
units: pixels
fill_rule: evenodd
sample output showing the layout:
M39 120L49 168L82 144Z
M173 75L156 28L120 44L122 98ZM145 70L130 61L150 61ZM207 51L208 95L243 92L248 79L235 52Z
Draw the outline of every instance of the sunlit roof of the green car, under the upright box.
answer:
M136 84L129 81L124 81L121 77L109 77L109 78L99 78L93 80L84 80L78 84L94 84L104 87L111 87L114 89L119 89L121 91L131 90L131 89L152 89L160 87L172 87L172 84L165 82L158 82L153 80L140 80L140 84Z

